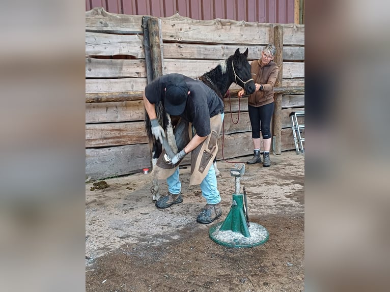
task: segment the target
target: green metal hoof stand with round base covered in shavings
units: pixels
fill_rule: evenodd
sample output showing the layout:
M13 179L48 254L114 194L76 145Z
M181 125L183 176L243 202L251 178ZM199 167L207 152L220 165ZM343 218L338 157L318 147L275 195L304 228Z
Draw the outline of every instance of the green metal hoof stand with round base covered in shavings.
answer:
M244 197L244 195L246 196L245 188L244 194L240 194L240 179L245 172L245 165L240 163L235 166L236 168L230 169L230 175L235 177L236 184L232 206L225 221L210 228L209 236L217 244L227 247L246 248L258 246L268 241L269 233L263 226L257 223L249 223L246 197Z

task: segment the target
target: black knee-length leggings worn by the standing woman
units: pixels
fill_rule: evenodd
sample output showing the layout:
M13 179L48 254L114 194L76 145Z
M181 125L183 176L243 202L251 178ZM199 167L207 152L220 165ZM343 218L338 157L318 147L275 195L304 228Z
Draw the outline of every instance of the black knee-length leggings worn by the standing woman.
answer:
M254 107L248 105L250 125L252 126L252 138L260 138L260 131L263 135L263 139L269 139L272 137L270 124L273 114L274 102Z

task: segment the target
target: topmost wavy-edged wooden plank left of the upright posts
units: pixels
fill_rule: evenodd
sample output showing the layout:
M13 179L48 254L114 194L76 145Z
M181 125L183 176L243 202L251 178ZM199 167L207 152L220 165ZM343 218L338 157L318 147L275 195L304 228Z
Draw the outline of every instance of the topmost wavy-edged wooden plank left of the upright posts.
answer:
M86 11L86 31L143 34L142 15L109 13L104 8Z

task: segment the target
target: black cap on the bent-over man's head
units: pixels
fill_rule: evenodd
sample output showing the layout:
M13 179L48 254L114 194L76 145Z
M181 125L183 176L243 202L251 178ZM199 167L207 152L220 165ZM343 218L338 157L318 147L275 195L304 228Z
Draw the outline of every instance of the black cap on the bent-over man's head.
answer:
M165 87L164 106L166 112L172 115L182 114L187 103L188 91L183 76L176 74L169 76Z

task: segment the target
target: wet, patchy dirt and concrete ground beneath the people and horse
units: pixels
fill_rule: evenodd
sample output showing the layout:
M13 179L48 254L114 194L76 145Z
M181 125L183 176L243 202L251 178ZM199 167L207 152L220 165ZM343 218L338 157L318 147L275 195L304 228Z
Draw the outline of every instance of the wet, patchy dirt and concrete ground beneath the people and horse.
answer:
M304 156L289 151L271 161L245 164L240 181L249 221L269 232L250 248L218 245L208 233L229 213L234 163L218 161L222 216L207 225L196 222L205 200L199 186L188 188L189 168L180 169L183 202L162 210L150 173L108 179L101 189L86 184L86 291L303 291Z

